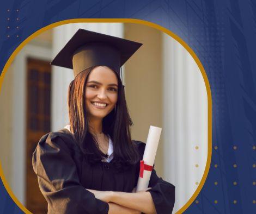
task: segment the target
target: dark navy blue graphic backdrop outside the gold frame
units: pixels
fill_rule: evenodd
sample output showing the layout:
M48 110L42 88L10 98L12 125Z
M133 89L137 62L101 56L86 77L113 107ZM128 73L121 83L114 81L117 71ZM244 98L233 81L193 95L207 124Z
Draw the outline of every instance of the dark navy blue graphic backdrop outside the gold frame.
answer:
M212 161L185 213L256 213L256 1L1 1L0 71L29 35L71 18L154 22L193 49L211 87ZM21 212L2 182L0 197L0 213Z

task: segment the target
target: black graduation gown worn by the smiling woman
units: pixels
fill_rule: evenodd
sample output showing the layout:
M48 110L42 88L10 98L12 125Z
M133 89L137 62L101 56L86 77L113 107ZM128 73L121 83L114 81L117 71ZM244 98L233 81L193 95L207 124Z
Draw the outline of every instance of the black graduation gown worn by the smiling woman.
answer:
M137 145L142 160L145 143ZM108 213L108 203L96 199L86 188L100 191L132 192L137 185L139 161L129 171L116 171L112 162L90 165L68 129L41 137L33 153L32 165L48 203L48 213ZM148 192L157 213L172 213L175 187L157 177L153 169Z

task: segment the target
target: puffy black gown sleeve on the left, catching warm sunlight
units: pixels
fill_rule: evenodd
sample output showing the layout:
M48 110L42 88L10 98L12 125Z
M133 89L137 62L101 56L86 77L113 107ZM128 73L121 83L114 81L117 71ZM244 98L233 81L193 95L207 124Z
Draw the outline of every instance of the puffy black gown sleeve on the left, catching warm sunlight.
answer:
M108 203L96 199L81 185L71 150L57 134L40 139L32 165L48 213L108 213Z

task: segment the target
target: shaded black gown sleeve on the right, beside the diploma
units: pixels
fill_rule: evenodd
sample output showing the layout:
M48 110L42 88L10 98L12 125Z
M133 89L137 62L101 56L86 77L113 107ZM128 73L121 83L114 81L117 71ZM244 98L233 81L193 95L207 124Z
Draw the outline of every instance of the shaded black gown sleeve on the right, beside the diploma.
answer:
M138 141L138 143L139 154L142 160L146 144L140 141ZM175 202L175 186L164 181L161 177L158 177L153 168L149 180L149 187L151 187L151 189L147 190L147 192L150 192L153 198L156 212L159 214L172 213Z

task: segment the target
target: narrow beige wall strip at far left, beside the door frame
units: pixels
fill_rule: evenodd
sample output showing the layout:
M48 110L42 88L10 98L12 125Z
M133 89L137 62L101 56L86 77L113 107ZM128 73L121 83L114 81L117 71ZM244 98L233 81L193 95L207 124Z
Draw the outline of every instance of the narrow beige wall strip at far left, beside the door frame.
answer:
M3 75L3 74L1 74ZM9 185L11 182L11 152L13 133L13 67L5 73L0 92L0 161L4 172L4 177Z

